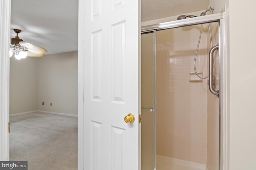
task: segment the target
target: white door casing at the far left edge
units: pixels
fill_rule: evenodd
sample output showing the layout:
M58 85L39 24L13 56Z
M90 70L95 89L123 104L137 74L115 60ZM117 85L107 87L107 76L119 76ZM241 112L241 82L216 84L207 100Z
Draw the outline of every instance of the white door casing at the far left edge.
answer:
M11 0L0 0L0 160L9 160L9 49Z

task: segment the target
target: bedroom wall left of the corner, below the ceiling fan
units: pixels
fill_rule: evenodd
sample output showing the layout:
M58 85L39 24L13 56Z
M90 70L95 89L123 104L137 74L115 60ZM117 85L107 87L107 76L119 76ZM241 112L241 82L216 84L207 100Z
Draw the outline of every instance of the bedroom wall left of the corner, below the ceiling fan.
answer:
M10 58L10 114L37 110L37 58Z

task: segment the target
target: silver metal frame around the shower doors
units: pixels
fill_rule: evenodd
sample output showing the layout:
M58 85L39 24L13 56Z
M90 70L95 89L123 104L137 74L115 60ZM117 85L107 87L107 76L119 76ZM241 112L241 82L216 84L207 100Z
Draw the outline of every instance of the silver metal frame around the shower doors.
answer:
M198 24L207 24L211 22L218 22L218 38L219 38L219 170L224 170L224 159L226 159L226 154L224 156L224 152L226 152L225 142L224 141L224 131L226 131L226 119L224 120L224 111L225 106L224 102L226 101L226 88L224 87L224 83L226 82L226 52L224 51L226 41L224 38L225 34L225 13L211 14L205 16L199 16L194 18L187 18L184 20L175 20L170 22L164 22L159 24L153 24L148 26L141 27L141 33L153 33L154 36L154 170L156 170L156 31L158 30L166 30L170 28L179 28L184 26L192 26ZM222 57L221 57L222 56ZM226 134L226 133L225 133Z

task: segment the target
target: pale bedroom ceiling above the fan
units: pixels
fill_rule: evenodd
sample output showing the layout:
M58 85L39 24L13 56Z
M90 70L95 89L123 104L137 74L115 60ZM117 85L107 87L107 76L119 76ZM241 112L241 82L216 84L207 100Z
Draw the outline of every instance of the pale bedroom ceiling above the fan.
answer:
M12 0L11 37L48 50L47 54L78 50L78 0Z

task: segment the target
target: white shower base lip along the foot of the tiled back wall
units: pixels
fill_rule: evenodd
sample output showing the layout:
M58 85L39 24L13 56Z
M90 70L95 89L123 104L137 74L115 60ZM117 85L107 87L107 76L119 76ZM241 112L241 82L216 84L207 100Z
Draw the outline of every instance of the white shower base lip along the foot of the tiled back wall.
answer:
M157 158L161 159L161 160L164 160L166 162L169 162L171 164L181 164L181 165L185 165L185 166L190 166L190 167L198 168L200 170L207 170L207 166L206 165L199 164L199 163L196 163L196 162L190 162L190 161L186 161L186 160L170 158L170 157L162 156L162 155L157 155Z

